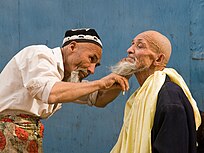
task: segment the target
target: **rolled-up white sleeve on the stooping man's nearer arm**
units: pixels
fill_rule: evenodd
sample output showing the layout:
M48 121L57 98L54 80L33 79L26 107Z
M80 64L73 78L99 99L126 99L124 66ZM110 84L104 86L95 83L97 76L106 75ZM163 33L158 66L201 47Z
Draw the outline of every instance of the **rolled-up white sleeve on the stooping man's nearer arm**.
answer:
M19 62L23 84L33 98L47 103L53 85L61 81L57 62L48 48L29 51L33 54L21 57Z

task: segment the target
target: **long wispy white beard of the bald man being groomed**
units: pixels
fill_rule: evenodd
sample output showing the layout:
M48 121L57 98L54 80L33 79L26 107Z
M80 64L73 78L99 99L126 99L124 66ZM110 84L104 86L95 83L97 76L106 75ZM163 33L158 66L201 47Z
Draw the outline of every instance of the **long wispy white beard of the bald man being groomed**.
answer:
M134 73L141 72L147 67L137 68L136 62L120 62L114 66L110 67L111 72L119 74L121 76L132 76Z

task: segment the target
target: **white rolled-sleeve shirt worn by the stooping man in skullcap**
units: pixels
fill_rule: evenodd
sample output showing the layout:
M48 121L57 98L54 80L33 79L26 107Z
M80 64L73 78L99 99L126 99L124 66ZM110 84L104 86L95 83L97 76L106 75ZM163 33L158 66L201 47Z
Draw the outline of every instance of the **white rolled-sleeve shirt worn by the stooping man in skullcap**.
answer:
M63 77L59 47L33 45L24 48L0 74L0 112L20 110L41 118L49 117L61 108L60 103L48 104L48 97L53 85Z

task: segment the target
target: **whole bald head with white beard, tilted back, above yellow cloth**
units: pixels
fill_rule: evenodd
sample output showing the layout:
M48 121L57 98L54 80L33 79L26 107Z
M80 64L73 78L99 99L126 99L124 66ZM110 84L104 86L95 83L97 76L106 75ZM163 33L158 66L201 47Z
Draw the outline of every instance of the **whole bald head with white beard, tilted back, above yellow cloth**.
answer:
M149 76L154 71L162 70L166 66L171 55L171 43L161 33L149 30L138 34L127 52L128 57L111 66L111 71L122 76L143 75L148 72ZM153 60L159 64L152 66Z

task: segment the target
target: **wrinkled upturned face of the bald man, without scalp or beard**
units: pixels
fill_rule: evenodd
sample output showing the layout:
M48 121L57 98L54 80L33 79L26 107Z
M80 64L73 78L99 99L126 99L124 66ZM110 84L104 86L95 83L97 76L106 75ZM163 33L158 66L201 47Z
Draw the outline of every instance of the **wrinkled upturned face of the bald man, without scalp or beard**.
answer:
M137 72L150 68L156 58L156 53L142 34L133 39L127 52L128 59L135 62Z

